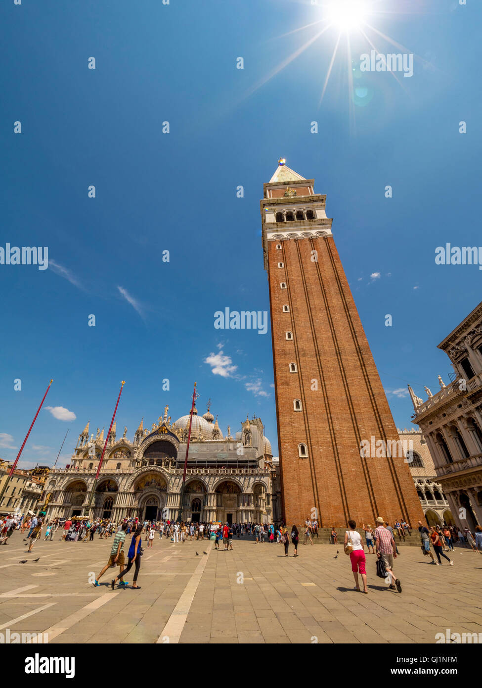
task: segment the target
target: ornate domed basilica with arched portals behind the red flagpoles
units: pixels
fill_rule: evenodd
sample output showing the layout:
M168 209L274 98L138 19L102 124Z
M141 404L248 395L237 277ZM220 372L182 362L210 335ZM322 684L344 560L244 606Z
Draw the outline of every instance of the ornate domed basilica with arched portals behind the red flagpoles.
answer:
M45 484L44 510L49 518L89 514L115 522L126 516L192 522L272 522L281 517L279 494L274 495L271 444L260 418L241 423L241 431L223 436L217 418L193 409L186 482L182 480L191 413L171 423L164 416L144 427L141 420L133 440L127 428L116 436L114 422L96 482L105 445L104 430L90 434L89 422L78 436L72 462L52 469ZM94 499L89 496L96 483Z

